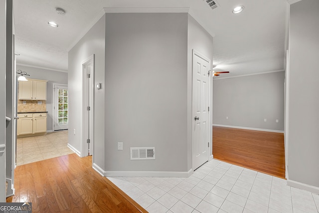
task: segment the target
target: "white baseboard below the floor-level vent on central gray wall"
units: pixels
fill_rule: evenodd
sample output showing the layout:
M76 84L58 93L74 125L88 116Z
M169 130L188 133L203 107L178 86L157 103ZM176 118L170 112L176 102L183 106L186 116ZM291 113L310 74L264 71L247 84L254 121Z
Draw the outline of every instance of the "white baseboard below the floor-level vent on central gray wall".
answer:
M188 178L193 174L193 170L188 172L156 172L156 171L105 171L105 177L173 177Z

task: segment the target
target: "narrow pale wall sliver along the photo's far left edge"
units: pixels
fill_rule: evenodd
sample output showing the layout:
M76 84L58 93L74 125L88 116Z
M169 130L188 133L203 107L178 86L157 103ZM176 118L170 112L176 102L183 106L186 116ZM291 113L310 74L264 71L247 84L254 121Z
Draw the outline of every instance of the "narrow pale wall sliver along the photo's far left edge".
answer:
M0 99L5 100L6 0L0 1ZM5 104L0 104L0 145L5 144ZM5 202L5 154L0 153L0 202Z

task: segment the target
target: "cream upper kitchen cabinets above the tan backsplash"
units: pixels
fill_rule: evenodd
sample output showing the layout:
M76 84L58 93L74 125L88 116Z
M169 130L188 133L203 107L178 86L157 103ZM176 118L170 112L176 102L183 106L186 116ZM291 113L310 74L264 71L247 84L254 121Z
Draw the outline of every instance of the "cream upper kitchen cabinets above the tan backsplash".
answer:
M19 100L46 100L46 80L19 81Z

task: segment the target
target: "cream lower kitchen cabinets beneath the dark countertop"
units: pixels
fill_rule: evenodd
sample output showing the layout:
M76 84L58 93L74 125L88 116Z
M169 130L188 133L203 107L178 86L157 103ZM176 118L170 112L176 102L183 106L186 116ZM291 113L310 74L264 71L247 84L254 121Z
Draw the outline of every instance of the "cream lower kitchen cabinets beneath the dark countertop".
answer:
M46 113L18 113L17 135L46 133Z

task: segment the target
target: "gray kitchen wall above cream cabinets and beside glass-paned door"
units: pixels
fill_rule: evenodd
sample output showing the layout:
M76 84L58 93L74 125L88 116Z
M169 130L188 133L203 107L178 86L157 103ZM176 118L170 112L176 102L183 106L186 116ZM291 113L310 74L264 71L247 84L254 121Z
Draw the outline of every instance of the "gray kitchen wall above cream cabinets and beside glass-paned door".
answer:
M17 56L18 57L18 56ZM66 72L58 72L53 70L35 68L35 67L28 67L28 66L21 66L16 65L16 70L22 70L28 73L28 78L33 79L40 79L40 80L47 80L47 89L46 89L46 111L47 114L47 131L52 131L52 109L54 104L52 103L52 95L53 95L53 83L60 83L60 84L68 84L68 73Z

